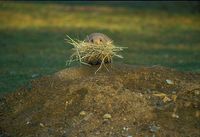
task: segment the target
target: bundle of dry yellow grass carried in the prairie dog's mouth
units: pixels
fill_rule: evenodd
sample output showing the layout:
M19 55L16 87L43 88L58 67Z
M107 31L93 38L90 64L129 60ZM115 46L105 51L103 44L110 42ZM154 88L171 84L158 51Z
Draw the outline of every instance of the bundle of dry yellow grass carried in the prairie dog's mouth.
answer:
M90 42L73 40L67 35L67 42L73 45L73 54L67 64L70 65L71 62L79 61L81 64L91 66L91 62L100 62L100 66L97 69L99 71L105 63L112 62L113 57L123 58L121 55L117 54L126 47L117 47L112 42L94 44ZM108 70L108 68L105 66ZM97 72L96 71L96 72ZM95 73L96 73L95 72Z

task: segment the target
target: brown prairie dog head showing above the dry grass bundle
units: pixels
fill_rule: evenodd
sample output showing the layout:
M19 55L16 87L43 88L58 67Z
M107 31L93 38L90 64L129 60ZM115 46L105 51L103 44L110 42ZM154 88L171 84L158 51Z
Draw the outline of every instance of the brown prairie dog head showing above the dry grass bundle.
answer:
M93 44L107 44L112 43L112 40L102 33L92 33L85 38L85 42L93 43Z

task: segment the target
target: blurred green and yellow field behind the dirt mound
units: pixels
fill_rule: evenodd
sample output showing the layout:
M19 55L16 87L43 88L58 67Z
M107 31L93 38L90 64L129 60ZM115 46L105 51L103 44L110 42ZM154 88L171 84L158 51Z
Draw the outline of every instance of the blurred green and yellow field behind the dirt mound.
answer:
M116 62L200 72L199 3L103 3L0 2L0 92L66 68L66 34L107 34L128 47Z

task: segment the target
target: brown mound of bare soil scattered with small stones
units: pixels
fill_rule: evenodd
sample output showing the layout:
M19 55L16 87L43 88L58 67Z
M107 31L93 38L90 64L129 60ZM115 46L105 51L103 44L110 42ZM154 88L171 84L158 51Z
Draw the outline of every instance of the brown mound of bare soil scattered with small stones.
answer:
M68 68L1 98L0 135L200 136L200 74L107 67Z

